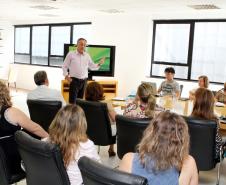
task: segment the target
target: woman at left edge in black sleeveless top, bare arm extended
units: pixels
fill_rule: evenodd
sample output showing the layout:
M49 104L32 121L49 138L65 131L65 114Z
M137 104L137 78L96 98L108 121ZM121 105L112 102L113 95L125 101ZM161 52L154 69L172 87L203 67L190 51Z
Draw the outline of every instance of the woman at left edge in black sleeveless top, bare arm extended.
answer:
M48 136L40 125L31 121L21 110L13 107L9 90L0 81L0 138L13 135L21 128L41 138Z

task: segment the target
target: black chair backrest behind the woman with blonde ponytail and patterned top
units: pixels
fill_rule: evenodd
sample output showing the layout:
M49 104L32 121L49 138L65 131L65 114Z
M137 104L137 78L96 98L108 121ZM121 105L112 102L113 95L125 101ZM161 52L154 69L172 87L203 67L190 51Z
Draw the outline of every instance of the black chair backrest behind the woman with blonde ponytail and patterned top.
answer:
M136 146L140 142L144 130L150 123L150 119L129 118L116 115L117 128L117 154L120 159L128 152L136 152Z

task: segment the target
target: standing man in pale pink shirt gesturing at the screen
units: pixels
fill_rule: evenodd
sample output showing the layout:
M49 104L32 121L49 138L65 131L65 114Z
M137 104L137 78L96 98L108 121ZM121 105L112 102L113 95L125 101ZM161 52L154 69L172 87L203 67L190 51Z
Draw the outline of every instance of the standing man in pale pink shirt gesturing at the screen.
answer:
M86 39L77 40L77 50L70 51L63 64L63 75L70 83L69 86L69 103L75 103L76 98L83 98L84 89L88 77L88 69L98 70L105 62L102 58L98 64L95 64L90 55L85 52Z

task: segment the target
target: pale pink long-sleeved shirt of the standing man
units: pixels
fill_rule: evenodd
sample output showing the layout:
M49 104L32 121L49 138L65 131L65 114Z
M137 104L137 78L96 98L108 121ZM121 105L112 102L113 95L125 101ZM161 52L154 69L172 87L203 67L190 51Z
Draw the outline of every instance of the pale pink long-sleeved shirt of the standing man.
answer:
M85 79L88 77L88 69L90 70L98 70L98 64L93 63L90 55L86 52L83 54L78 51L70 51L62 66L63 75L69 75L70 77L75 77L79 79Z

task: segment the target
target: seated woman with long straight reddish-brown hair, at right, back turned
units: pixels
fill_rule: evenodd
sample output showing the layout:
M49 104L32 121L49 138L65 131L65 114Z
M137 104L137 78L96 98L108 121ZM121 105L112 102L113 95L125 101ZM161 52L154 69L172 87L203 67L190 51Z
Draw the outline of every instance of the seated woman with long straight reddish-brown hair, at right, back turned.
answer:
M210 90L205 88L198 88L195 92L195 99L191 116L216 121L217 134L215 158L217 159L220 154L222 138L219 134L219 119L214 114L214 103L215 99L213 93Z

